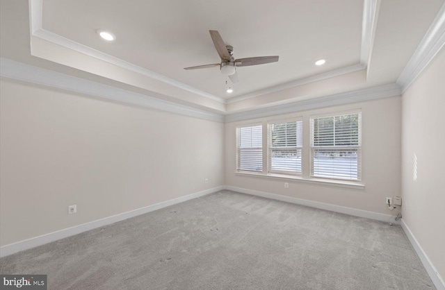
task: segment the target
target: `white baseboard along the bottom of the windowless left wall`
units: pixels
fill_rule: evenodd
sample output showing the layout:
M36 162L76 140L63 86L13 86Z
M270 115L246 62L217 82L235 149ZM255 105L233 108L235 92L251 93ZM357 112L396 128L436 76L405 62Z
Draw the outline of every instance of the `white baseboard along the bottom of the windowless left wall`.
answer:
M213 187L211 189L206 189L203 191L195 192L194 194L189 194L188 196L181 196L179 198L174 198L174 199L171 199L170 201L163 201L162 203L156 203L154 205L142 207L137 210L131 210L130 212L116 214L115 216L108 216L104 219L98 219L97 221L83 223L81 225L76 225L72 228L65 228L63 230L58 230L57 232L50 232L49 234L43 234L39 237L33 237L31 239L26 239L24 241L18 241L17 243L0 247L0 257L13 255L14 253L20 252L22 250L28 250L30 248L42 246L44 244L50 243L51 241L57 241L58 239L64 239L66 237L73 236L74 234L80 234L81 232L86 232L87 230L100 228L100 227L103 227L104 225L110 225L111 223L123 221L124 219L129 219L129 218L132 218L133 216L138 216L140 214L146 214L147 212L153 212L154 210L159 210L163 207L168 207L170 205L182 203L184 201L188 201L193 198L205 196L207 194L212 194L213 192L220 191L223 189L225 189L224 186Z

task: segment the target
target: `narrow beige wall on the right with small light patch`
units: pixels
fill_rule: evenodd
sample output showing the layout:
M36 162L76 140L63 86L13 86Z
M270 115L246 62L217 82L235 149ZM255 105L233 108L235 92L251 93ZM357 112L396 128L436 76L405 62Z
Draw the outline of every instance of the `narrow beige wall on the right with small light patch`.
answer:
M442 278L445 278L444 76L445 49L442 49L402 97L403 221Z

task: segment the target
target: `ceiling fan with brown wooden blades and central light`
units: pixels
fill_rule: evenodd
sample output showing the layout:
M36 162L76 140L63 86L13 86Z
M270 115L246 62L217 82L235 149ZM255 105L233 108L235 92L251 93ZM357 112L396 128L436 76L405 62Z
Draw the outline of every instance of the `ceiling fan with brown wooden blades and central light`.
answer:
M220 55L221 62L211 65L198 65L196 67L185 67L184 69L207 69L209 67L220 67L221 73L229 76L232 83L238 83L238 74L236 67L248 67L249 65L264 65L265 63L277 62L278 56L258 56L254 58L238 58L234 59L234 48L225 45L223 38L218 31L209 31L211 40L215 45L216 51Z

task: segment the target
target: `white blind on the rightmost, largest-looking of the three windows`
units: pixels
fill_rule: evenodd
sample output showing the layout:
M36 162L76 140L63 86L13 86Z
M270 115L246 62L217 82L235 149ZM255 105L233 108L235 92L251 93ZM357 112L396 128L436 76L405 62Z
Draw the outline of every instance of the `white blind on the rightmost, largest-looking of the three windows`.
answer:
M311 176L362 178L362 113L311 118Z

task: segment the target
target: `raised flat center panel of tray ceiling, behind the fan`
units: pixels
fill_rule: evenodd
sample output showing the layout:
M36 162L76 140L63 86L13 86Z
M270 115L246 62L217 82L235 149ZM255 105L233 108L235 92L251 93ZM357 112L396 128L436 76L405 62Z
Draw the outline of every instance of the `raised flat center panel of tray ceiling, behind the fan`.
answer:
M131 4L131 5L130 5ZM363 1L44 0L42 28L216 96L230 98L359 62ZM97 29L113 33L106 42ZM280 56L238 67L227 94L209 30L235 58ZM314 62L325 59L325 65Z

